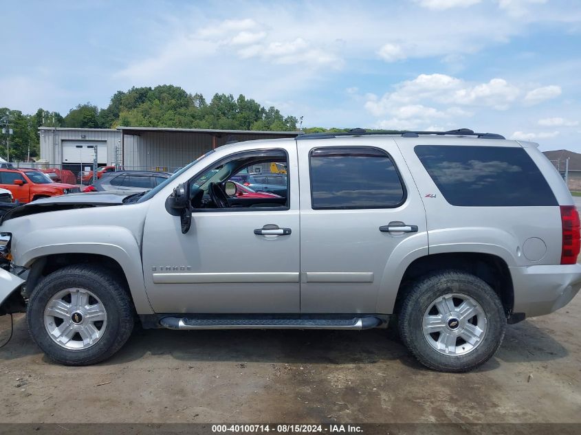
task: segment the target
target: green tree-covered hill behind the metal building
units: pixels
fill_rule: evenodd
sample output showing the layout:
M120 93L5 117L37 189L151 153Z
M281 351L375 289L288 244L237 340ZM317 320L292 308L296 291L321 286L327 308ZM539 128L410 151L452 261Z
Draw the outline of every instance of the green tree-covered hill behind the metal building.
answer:
M8 121L14 131L10 136L10 159L26 159L39 153L39 126L110 129L116 126L173 127L183 129L224 129L294 131L297 120L284 116L276 107L266 109L240 95L216 93L210 102L200 93L187 93L181 87L160 85L132 87L117 91L109 106L100 109L87 102L78 104L64 117L57 112L39 109L32 115L19 110L0 108L0 122ZM0 156L6 158L8 136L1 135Z

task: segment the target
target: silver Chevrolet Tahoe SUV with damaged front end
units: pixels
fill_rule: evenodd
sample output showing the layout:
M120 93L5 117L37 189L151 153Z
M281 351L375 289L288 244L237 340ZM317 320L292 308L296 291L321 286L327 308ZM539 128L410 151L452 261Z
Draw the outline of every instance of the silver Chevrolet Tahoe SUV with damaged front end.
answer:
M287 168L286 194L230 177ZM396 326L426 366L483 364L506 324L581 287L579 215L536 144L467 129L221 146L149 192L3 216L2 313L52 359L102 361L145 328ZM259 252L260 261L237 254Z

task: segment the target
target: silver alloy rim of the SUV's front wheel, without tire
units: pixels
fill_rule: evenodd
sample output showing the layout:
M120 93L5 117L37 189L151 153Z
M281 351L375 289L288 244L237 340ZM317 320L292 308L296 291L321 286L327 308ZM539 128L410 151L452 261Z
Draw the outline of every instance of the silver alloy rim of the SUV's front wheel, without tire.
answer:
M93 346L107 328L107 311L99 298L85 289L65 289L54 295L44 311L50 337L66 349Z

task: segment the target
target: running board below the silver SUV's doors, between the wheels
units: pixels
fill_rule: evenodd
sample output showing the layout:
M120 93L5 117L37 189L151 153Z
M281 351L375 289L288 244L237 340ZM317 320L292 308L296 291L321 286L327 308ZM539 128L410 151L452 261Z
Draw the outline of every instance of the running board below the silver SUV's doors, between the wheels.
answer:
M164 317L160 324L168 329L370 329L380 326L379 317L352 319L241 319Z

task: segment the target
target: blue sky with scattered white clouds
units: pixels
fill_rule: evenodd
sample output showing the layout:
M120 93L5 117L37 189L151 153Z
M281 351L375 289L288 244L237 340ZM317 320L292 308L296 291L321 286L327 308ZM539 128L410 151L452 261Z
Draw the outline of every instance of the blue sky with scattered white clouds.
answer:
M581 152L581 0L12 1L0 107L243 93L303 126L501 133Z

